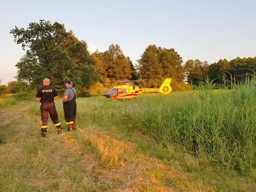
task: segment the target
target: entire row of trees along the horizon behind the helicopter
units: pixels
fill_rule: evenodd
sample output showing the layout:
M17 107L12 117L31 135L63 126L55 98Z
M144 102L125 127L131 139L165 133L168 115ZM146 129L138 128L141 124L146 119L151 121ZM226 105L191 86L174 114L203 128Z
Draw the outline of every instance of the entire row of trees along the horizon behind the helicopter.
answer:
M111 44L104 52L90 53L87 43L67 31L64 24L45 20L31 22L27 28L15 26L10 34L25 50L16 64L16 79L30 89L41 86L44 78L49 78L59 91L63 91L63 83L71 79L82 94L95 82L146 79L141 82L142 86L157 87L169 77L173 78L174 90L186 90L189 86L184 79L198 85L208 76L215 83L223 84L223 76L230 74L238 82L245 80L245 74L254 71L256 66L256 58L236 58L229 62L220 59L210 65L207 61L190 59L183 64L174 48L154 44L144 50L134 65L118 44Z

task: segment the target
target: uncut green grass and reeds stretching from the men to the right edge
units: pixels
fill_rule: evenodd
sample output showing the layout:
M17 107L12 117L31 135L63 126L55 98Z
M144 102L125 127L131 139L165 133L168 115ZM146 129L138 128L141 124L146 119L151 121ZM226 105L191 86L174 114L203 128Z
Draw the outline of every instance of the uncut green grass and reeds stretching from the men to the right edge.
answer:
M255 93L255 80L233 90L215 90L207 81L197 91L144 94L130 101L78 98L78 121L138 129L163 147L171 144L207 164L256 178Z

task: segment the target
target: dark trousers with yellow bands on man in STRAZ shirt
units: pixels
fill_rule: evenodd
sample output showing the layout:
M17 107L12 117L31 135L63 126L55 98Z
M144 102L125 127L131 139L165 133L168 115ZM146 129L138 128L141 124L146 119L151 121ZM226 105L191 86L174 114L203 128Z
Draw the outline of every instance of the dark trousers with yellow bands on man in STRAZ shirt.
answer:
M52 119L55 126L60 125L60 121L58 118L58 113L56 111L55 103L42 103L41 107L41 120L42 126L41 128L47 128L48 116L50 114L50 118Z

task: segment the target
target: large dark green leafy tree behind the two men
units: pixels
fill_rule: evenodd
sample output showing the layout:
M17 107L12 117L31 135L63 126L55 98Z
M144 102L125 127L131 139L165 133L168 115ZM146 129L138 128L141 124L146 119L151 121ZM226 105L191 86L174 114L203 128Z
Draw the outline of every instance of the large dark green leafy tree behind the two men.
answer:
M59 89L72 79L79 88L88 88L97 80L94 62L85 41L79 41L72 31L58 22L39 20L28 27L15 26L10 31L26 54L17 63L17 79L39 86L49 78Z

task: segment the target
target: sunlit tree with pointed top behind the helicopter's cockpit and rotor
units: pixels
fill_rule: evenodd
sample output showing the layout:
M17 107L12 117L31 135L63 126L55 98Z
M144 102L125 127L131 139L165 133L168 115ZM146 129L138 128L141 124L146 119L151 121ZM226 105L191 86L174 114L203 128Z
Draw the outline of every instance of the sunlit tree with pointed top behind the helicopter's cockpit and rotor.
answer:
M131 78L130 64L118 44L111 44L104 52L103 58L106 64L107 78L113 80Z

